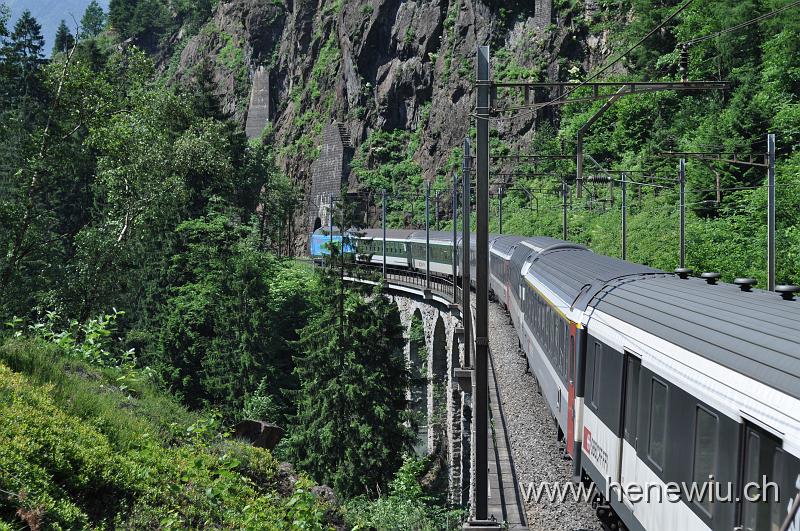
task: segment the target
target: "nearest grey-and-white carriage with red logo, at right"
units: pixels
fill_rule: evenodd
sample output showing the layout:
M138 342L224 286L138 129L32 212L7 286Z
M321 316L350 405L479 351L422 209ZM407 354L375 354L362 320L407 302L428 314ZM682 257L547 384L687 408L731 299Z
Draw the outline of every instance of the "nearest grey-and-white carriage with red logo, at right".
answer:
M710 280L608 282L585 312L583 468L628 529L777 530L800 487L800 304ZM709 476L732 501L620 501L604 479ZM779 500L747 501L764 480Z

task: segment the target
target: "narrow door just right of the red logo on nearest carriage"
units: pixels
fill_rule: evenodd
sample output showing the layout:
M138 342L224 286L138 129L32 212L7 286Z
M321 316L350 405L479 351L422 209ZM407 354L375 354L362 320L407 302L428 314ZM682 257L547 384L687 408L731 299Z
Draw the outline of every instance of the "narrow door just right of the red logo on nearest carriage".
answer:
M622 455L619 459L619 478L620 484L628 485L636 483L636 467L638 463L636 448L639 441L639 375L642 372L642 360L626 352L623 371L622 445L620 446ZM627 497L623 499L633 512L635 504L632 504Z

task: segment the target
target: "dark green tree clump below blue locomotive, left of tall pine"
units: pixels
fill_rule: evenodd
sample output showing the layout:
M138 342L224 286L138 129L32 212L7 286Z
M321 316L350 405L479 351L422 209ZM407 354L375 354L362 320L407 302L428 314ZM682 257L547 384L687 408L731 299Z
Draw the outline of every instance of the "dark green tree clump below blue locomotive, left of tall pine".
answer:
M295 386L289 344L309 308L302 284L314 285L258 251L248 230L219 212L181 224L163 315L162 370L171 385L189 404L224 404L228 415L264 378L276 401ZM287 283L296 291L281 295Z

